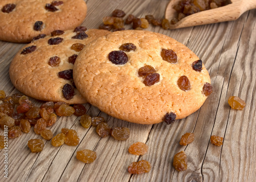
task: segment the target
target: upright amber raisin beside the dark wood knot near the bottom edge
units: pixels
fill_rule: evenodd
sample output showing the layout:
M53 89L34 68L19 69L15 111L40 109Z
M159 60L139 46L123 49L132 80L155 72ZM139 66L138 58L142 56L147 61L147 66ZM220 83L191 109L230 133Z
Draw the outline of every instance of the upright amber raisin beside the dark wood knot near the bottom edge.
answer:
M173 165L177 171L185 171L187 169L187 155L184 151L174 155Z

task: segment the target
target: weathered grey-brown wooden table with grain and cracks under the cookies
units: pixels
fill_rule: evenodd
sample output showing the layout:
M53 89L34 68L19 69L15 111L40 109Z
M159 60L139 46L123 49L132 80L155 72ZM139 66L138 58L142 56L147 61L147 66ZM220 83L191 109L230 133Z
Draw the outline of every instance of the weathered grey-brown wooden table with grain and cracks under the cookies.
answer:
M168 0L87 0L88 15L83 25L98 28L102 17L114 9L126 14L144 17L153 14L164 16ZM126 29L130 29L127 25ZM185 44L203 60L210 73L214 92L194 114L177 120L172 125L159 123L139 125L118 120L86 104L88 114L102 116L113 126L129 127L130 138L117 141L112 137L100 138L95 127L81 127L79 117L60 117L50 127L54 135L61 128L78 132L78 146L53 147L45 141L44 150L31 153L30 139L41 139L34 134L9 139L8 179L4 178L4 151L0 157L0 181L255 181L256 179L256 10L244 13L238 20L180 30L147 29L168 35ZM19 93L9 78L9 65L24 44L0 41L0 89L7 95ZM229 96L239 96L246 101L243 111L230 109ZM34 100L37 106L42 101ZM195 141L179 145L181 136L194 133ZM0 131L3 135L4 131ZM224 137L222 146L210 143L210 136ZM149 146L146 154L132 155L128 148L135 142ZM84 164L76 159L76 151L91 149L97 160ZM173 157L179 151L187 154L188 168L178 172L173 167ZM152 164L149 173L132 175L127 167L134 161L147 160Z

